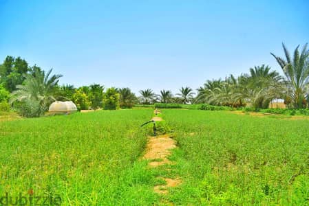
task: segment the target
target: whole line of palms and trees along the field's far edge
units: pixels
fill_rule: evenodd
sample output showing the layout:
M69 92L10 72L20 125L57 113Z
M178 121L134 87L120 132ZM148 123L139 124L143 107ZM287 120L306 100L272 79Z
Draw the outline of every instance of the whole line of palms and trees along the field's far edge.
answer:
M36 65L30 67L24 59L7 56L0 65L0 111L14 109L28 117L43 115L56 101L72 100L79 110L132 108L135 104L178 103L211 104L215 106L268 108L275 99L283 99L288 108L309 106L309 50L307 44L299 46L292 56L282 44L285 58L270 53L278 62L284 76L272 71L268 65L250 68L248 73L230 75L224 79L206 80L196 93L182 87L175 95L169 90L159 94L152 89L140 90L107 88L100 84L74 87L59 85L62 75L44 71Z

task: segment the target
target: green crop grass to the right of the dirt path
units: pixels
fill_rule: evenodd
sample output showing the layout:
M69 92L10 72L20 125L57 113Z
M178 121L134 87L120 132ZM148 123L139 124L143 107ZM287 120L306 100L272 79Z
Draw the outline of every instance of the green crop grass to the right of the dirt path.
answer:
M183 179L169 201L193 205L308 205L308 120L164 110Z

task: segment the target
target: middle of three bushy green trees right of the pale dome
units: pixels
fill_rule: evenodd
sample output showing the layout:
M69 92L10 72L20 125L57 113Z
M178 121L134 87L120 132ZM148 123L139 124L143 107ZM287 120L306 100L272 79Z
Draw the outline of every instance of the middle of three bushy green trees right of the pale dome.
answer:
M91 102L91 107L93 109L103 106L103 90L104 87L100 84L92 84L89 86L89 101Z

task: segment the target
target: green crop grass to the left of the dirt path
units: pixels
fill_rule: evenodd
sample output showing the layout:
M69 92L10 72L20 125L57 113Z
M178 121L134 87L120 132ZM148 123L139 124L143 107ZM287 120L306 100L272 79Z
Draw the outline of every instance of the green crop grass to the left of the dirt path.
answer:
M156 203L140 124L152 111L76 113L1 122L0 194L61 196L63 205Z

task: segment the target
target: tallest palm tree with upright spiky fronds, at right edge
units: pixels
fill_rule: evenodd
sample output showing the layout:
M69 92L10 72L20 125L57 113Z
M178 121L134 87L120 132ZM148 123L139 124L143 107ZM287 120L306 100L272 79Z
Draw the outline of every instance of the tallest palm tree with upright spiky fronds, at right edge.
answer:
M303 106L303 100L306 99L306 87L309 82L309 51L307 50L307 45L308 44L303 46L301 54L299 54L298 45L294 51L293 58L291 58L286 45L282 43L286 60L270 53L275 57L282 71L284 71L288 87L292 91L290 98L295 108L301 108Z

